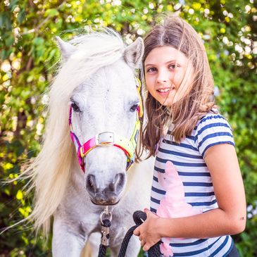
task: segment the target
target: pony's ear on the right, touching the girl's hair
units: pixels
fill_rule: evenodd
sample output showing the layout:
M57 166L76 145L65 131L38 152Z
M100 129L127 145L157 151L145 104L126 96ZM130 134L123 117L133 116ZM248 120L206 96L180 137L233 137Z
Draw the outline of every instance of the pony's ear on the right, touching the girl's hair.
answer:
M139 68L144 54L144 41L138 37L136 41L127 46L124 51L124 59L131 68Z

